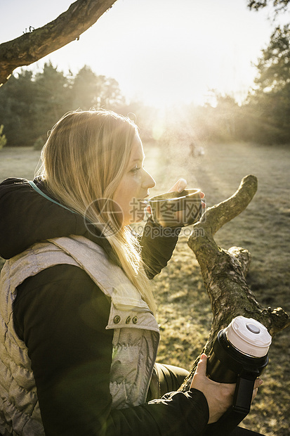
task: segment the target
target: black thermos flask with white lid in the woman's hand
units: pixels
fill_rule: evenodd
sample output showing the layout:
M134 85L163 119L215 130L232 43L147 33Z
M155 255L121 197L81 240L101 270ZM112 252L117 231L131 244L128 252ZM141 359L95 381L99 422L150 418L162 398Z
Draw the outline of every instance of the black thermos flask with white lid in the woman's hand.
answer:
M228 327L218 332L207 359L207 376L218 383L237 384L231 408L217 423L209 425L209 434L227 435L249 413L253 385L268 364L271 342L263 324L244 316L232 319Z

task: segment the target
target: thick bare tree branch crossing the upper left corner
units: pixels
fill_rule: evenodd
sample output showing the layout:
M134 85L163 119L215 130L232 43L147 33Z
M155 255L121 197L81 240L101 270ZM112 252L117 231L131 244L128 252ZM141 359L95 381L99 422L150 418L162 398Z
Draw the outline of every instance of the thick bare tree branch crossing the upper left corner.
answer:
M30 65L79 39L116 0L77 0L58 18L22 34L21 37L0 44L0 86L7 82L13 70Z

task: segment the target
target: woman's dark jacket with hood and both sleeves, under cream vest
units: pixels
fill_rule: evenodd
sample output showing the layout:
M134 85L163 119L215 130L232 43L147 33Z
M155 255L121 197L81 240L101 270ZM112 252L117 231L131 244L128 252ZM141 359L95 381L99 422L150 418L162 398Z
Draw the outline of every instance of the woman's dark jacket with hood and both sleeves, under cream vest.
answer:
M44 186L41 186L44 190ZM170 259L178 235L141 238L152 278ZM0 184L0 255L10 258L38 241L70 234L101 245L118 263L110 244L83 217L51 203L26 181ZM18 287L15 329L32 361L47 435L199 435L209 418L202 392L173 392L149 404L112 409L109 390L112 331L105 330L110 302L84 270L57 265Z

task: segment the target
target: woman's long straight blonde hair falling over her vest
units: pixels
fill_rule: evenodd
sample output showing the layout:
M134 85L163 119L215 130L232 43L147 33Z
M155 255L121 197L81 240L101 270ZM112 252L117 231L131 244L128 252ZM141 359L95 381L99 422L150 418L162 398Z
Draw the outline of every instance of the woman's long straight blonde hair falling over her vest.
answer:
M126 276L155 311L150 281L131 230L122 226L113 195L128 167L138 127L110 110L74 111L53 127L41 151L38 175L60 203L86 217L106 238ZM107 199L107 200L103 200Z

